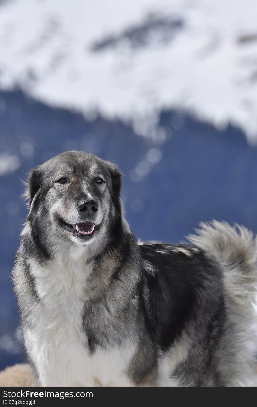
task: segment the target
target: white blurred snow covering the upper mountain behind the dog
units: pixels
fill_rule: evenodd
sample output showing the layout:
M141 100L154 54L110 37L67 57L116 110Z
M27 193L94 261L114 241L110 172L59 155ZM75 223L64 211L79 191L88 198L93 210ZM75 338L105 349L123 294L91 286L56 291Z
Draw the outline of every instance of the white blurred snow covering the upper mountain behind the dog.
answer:
M256 0L0 2L0 89L132 120L176 108L257 142Z

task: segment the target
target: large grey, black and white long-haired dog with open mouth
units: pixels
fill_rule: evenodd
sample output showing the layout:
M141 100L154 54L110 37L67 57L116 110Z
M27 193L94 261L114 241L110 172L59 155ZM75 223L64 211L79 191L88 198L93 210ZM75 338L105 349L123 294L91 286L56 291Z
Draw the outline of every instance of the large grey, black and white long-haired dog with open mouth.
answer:
M12 276L37 385L253 385L252 232L213 221L189 243L137 242L121 185L82 151L29 174Z

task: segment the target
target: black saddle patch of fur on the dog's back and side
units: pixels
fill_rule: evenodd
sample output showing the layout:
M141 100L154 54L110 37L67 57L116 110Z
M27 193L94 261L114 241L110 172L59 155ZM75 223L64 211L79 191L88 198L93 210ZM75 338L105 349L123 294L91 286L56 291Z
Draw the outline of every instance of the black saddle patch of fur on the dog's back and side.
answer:
M163 243L155 243L139 247L142 258L154 270L154 274L148 269L142 272L140 303L145 325L153 341L166 350L193 318L206 270L212 274L213 266L202 251L191 252L189 245L180 247L191 256L176 251L176 245L167 248Z

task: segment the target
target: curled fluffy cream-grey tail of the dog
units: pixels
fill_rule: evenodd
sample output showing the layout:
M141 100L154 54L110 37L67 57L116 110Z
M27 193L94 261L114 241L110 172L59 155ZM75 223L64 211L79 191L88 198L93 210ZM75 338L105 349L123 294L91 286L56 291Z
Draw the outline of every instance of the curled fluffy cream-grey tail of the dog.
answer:
M232 227L218 221L200 223L195 232L188 240L223 266L224 289L230 305L242 316L253 317L257 300L257 238L243 226Z

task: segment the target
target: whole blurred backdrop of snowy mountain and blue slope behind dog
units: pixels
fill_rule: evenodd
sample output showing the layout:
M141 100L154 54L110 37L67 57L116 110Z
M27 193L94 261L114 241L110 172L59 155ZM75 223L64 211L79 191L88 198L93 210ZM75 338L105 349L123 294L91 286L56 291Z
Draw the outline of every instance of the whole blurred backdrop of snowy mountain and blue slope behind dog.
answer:
M24 360L10 270L33 166L118 164L141 239L257 232L256 18L256 0L0 0L0 369Z

